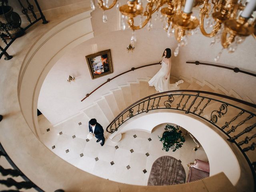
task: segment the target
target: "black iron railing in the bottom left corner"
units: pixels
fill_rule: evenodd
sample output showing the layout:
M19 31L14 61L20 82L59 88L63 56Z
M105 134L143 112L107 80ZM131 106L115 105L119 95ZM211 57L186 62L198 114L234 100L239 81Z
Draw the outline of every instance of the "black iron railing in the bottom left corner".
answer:
M8 176L6 180L0 180L0 184L3 184L7 187L15 186L18 190L20 189L30 189L34 188L36 191L44 192L41 188L36 186L29 178L27 178L20 169L14 164L11 158L8 156L6 151L4 150L2 144L0 143L0 158L1 156L5 157L8 163L12 166L12 169L5 169L4 167L0 166L0 173L3 176ZM24 181L16 182L13 177L21 176Z

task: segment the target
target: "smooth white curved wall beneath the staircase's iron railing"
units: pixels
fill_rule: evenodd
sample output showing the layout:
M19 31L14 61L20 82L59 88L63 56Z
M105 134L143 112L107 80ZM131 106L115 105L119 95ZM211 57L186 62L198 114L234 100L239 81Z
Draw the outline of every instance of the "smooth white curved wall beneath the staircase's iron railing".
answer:
M212 128L190 116L170 112L170 110L152 110L126 121L117 132L110 135L110 139L134 127L152 132L154 127L166 122L181 126L200 142L210 163L210 176L224 172L233 185L237 184L241 171L236 155L230 146Z

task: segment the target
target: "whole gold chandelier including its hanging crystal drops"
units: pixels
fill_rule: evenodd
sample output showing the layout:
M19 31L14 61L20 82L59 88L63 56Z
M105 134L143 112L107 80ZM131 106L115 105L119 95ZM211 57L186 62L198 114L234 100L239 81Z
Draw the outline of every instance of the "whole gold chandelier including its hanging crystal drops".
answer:
M121 29L125 30L126 24L133 30L130 40L133 46L136 42L135 30L146 26L152 28L152 17L154 20L164 21L164 30L167 36L175 36L178 47L174 56L178 55L179 48L188 44L187 38L199 31L209 38L214 37L210 46L215 42L221 42L222 50L216 56L215 61L220 58L222 51L227 49L229 53L236 50L247 36L253 35L256 38L256 19L252 13L256 10L256 0L242 2L242 0L147 0L145 10L142 0L128 0L127 4L120 6L118 0L108 4L108 0L98 0L98 5L103 10L103 22L107 22L105 10L116 5L122 14ZM166 6L167 5L167 6ZM192 8L200 8L200 20L192 16ZM91 0L91 8L94 10L94 2ZM138 25L134 24L134 18L140 17ZM207 21L206 21L207 20ZM206 32L206 31L210 32Z

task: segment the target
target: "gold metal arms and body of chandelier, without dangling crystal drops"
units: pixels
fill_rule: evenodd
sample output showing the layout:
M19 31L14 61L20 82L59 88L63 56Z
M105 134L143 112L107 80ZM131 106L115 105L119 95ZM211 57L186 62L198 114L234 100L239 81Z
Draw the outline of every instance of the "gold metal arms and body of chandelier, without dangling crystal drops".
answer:
M185 0L147 0L145 10L141 0L128 0L127 4L120 6L119 10L123 16L126 16L128 27L132 30L138 30L150 26L152 14L159 12L166 20L164 29L172 30L178 42L187 33L200 27L202 34L206 37L214 37L221 32L221 44L223 48L228 48L234 42L236 36L254 37L256 34L256 21L250 18L238 16L245 6L238 3L238 0L194 0L193 7L201 6L200 19L192 16L192 12L184 12ZM108 10L115 6L118 0L114 0L110 6L106 6L103 0L98 0L98 5L102 10ZM118 2L119 4L119 2ZM166 6L167 5L167 6ZM141 16L144 20L139 24L134 24L134 18ZM212 16L212 30L206 32L205 19ZM151 25L152 26L152 25ZM223 28L223 29L222 29Z

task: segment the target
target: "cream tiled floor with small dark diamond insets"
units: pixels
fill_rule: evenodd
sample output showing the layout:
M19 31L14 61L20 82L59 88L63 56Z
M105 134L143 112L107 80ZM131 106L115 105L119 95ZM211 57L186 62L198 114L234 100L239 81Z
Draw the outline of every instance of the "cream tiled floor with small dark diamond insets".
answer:
M96 138L86 141L89 131L86 119L84 114L80 114L50 127L50 131L44 128L41 130L44 132L42 142L60 158L96 176L127 184L147 185L152 164L160 156L168 155L181 160L186 176L186 165L194 162L195 158L208 161L202 147L193 151L196 144L189 134L179 150L163 151L158 136L164 131L165 124L156 126L151 134L128 131L122 134L120 142L112 143L106 139L104 146L100 146Z

